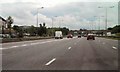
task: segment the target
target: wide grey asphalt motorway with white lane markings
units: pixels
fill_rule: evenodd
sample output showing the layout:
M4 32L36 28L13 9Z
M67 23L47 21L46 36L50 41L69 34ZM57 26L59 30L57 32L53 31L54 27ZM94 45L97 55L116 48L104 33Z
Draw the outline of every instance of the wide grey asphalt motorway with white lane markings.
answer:
M2 44L3 70L117 70L118 41L86 37Z

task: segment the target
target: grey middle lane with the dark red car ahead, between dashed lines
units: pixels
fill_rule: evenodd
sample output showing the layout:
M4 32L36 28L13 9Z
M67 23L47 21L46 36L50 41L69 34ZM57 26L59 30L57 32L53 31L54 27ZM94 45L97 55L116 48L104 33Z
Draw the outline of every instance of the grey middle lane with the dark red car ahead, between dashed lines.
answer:
M113 51L113 50L111 50ZM50 70L116 70L116 55L104 50L96 41L87 41L86 38L72 47L66 55L57 58L54 64L46 67Z

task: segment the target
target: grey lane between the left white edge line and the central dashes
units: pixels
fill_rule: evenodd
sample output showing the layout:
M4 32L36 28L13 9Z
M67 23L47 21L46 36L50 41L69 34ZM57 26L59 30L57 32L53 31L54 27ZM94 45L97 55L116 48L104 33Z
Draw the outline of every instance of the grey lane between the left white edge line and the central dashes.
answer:
M30 48L14 48L3 50L4 69L42 69L48 60L59 57L67 51L71 39L58 40L40 45L28 46Z

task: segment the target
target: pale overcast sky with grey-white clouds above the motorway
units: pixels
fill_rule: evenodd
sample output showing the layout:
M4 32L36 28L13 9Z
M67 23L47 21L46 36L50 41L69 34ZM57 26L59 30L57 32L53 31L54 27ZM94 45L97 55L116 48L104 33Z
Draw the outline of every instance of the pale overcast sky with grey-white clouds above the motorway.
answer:
M12 16L14 25L36 26L37 9L39 23L47 27L67 27L70 29L105 28L105 8L107 7L108 27L118 24L119 0L0 0L0 16ZM102 8L98 8L101 6ZM114 8L109 8L114 6ZM44 7L43 9L40 9ZM100 18L100 19L99 19Z

